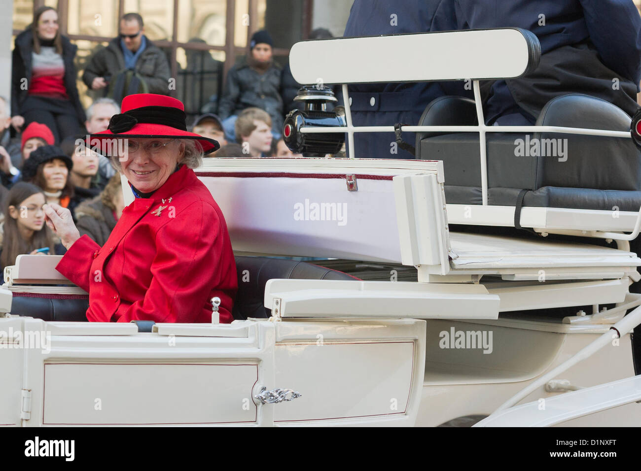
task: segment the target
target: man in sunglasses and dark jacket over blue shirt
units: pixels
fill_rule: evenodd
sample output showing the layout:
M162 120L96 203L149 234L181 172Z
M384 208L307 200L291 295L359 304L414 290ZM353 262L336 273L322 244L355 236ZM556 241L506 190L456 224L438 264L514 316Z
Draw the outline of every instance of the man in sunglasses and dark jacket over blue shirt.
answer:
M97 51L85 67L82 79L91 90L103 90L120 104L127 95L149 92L169 95L167 56L144 35L138 13L127 13L120 33Z

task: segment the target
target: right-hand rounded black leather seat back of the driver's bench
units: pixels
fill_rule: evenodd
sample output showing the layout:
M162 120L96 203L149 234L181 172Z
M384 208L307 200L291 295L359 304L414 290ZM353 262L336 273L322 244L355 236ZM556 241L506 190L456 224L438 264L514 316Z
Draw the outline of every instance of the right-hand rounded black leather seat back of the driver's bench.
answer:
M537 126L607 129L629 133L631 118L600 98L569 94L551 99ZM535 133L540 142L565 143L566 157L544 159L539 185L597 190L641 190L641 152L632 139L576 134ZM561 159L561 160L560 160Z

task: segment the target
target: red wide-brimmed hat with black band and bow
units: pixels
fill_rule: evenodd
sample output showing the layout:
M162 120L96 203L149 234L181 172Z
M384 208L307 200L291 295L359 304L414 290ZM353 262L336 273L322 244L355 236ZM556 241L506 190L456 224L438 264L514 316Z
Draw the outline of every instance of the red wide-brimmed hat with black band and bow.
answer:
M112 116L106 131L90 135L87 144L98 153L114 138L128 137L194 139L203 146L204 154L221 147L216 140L187 131L186 119L180 100L151 93L128 95L122 100L122 113Z

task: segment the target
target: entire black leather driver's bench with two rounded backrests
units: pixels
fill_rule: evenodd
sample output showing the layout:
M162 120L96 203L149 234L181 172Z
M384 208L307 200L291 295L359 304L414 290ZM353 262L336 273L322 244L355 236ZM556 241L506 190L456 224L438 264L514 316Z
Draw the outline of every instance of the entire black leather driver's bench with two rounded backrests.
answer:
M428 105L420 124L476 124L472 113L471 100L440 97ZM630 121L612 103L569 94L549 101L536 124L628 133ZM443 161L447 202L481 204L478 133L420 135L416 157ZM641 153L630 138L487 133L486 139L489 204L513 206L520 190L532 190L526 194L524 206L590 210L612 210L617 206L638 210Z

